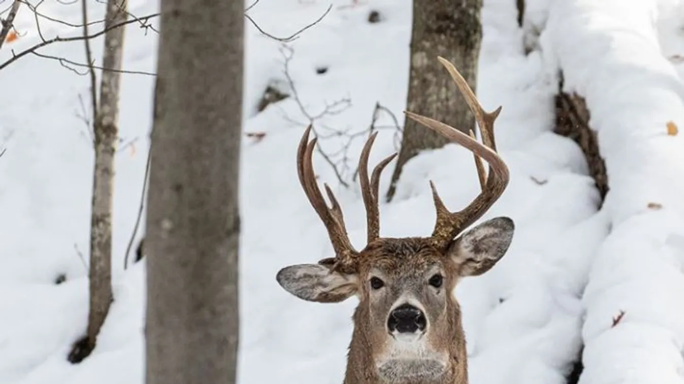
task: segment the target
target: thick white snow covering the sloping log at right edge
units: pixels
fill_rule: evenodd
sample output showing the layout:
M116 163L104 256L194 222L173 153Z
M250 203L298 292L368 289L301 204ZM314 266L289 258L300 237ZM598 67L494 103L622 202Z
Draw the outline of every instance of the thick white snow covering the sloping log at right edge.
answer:
M684 228L684 141L668 136L666 124L684 123L684 93L666 56L683 48L674 18L684 8L623 3L558 1L542 36L549 58L566 69L566 91L591 106L611 188L603 207L611 234L583 297L580 383L683 383L684 248L676 239Z

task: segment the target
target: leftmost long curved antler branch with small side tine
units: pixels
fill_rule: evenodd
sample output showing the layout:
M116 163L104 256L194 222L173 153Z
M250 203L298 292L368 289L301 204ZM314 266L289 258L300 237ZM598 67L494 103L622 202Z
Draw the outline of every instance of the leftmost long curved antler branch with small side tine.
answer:
M321 218L321 221L328 230L328 236L330 237L335 257L339 259L340 263L350 265L352 263L352 258L357 252L354 250L354 247L349 240L349 236L347 235L342 209L337 198L335 198L332 190L330 190L330 187L326 184L326 193L332 203L332 208L329 208L321 194L321 190L318 188L316 176L313 171L313 149L316 146L317 138L313 138L307 145L310 133L311 125L308 125L306 130L304 130L304 135L300 140L297 150L297 171L300 183L302 184L306 198L308 198L309 203L311 203L313 209L318 213L319 218Z

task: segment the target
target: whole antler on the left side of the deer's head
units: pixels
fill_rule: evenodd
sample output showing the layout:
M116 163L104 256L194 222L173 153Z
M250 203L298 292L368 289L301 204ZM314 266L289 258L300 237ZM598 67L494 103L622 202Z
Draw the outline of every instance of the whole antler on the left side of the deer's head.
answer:
M328 194L328 198L332 204L332 207L328 207L328 204L321 194L321 190L318 188L316 175L313 172L312 161L313 149L315 148L317 138L308 142L310 133L311 125L308 125L306 130L304 130L304 135L300 140L299 148L297 150L297 171L300 183L302 183L302 188L304 188L304 193L306 194L309 203L311 203L316 213L318 213L319 218L321 218L321 221L323 221L323 224L326 226L332 248L335 252L334 258L324 259L319 263L333 264L333 268L339 267L344 271L351 272L354 269L354 259L358 256L358 252L354 250L354 247L349 240L349 236L347 235L342 209L337 198L335 198L328 184L324 184L326 194ZM368 243L380 237L380 210L378 209L380 174L387 164L397 156L397 153L393 153L393 155L382 160L382 162L373 168L373 173L369 180L368 156L371 152L371 147L373 147L373 142L376 140L376 136L378 136L378 132L369 136L366 144L363 146L363 151L361 151L360 160L358 162L361 193L363 195L363 203L366 206Z

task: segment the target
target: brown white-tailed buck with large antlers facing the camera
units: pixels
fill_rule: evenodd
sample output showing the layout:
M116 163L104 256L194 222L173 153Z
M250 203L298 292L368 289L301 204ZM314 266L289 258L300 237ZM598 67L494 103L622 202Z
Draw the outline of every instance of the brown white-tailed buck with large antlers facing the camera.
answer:
M441 57L439 61L475 114L483 144L472 134L467 136L439 121L405 113L474 153L482 192L462 211L450 212L431 182L437 216L430 237L380 237L378 183L380 173L395 155L382 160L369 179L368 156L376 138L373 134L359 161L367 246L354 250L332 190L326 184L332 204L328 207L317 186L312 166L316 139L308 142L311 126L299 145L299 179L328 229L335 256L317 264L285 267L276 279L286 291L308 301L335 303L358 297L345 384L468 383L461 313L453 289L460 278L483 274L495 265L513 237L513 221L505 217L462 233L482 217L508 185L508 167L497 155L494 143L494 121L501 107L486 113L458 70ZM480 158L489 164L488 175Z

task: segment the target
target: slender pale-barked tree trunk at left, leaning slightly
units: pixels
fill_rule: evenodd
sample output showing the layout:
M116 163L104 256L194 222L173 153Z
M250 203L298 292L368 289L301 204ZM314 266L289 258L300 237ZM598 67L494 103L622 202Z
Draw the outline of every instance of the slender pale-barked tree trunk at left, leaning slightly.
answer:
M127 2L107 1L105 29L127 20ZM93 349L97 335L111 305L111 202L114 193L114 153L118 136L119 88L124 46L123 27L105 33L95 133L95 168L93 173L90 219L90 312L88 346Z

